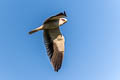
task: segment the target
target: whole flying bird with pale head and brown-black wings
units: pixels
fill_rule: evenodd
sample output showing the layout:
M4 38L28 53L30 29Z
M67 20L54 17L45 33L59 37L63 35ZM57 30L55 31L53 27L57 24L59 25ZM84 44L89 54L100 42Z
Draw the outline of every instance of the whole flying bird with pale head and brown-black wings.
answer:
M40 27L35 28L29 32L29 34L33 34L43 30L44 44L47 55L49 56L54 71L56 72L58 72L58 70L61 68L64 57L65 39L60 32L59 27L67 22L66 17L67 15L65 11L60 12L54 16L49 17Z

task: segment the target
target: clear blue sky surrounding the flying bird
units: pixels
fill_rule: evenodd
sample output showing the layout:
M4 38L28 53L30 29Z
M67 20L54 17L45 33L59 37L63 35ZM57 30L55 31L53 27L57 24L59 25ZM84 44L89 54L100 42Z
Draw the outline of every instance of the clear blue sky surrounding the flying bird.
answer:
M66 11L66 50L54 72L43 32L28 32ZM0 0L0 80L120 80L119 0Z

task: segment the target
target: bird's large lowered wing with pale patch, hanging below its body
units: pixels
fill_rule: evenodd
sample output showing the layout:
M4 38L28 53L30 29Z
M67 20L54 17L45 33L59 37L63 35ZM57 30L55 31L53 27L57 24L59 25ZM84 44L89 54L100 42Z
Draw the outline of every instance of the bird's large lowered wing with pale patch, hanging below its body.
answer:
M64 56L64 37L59 28L44 30L44 40L48 56L55 71L61 68Z

